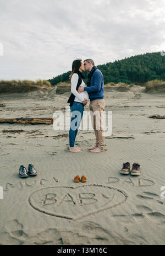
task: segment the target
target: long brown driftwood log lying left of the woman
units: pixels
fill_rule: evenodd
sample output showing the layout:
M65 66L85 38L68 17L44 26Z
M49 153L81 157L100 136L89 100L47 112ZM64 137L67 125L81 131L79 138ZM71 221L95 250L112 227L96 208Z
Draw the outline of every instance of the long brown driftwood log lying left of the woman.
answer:
M6 122L9 124L14 124L16 122L17 124L50 125L50 124L53 124L53 118L10 118L10 119L0 118L0 124L6 123Z

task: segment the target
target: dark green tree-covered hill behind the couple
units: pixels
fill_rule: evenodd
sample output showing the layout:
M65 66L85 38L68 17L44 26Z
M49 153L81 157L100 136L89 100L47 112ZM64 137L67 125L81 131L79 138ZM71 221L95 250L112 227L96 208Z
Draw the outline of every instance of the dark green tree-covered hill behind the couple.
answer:
M140 54L123 60L108 62L103 65L98 65L104 76L104 82L124 82L127 84L143 84L153 79L165 81L165 56L161 52L152 52ZM71 71L65 72L57 77L48 79L55 86L59 82L69 81ZM84 72L87 78L87 72Z

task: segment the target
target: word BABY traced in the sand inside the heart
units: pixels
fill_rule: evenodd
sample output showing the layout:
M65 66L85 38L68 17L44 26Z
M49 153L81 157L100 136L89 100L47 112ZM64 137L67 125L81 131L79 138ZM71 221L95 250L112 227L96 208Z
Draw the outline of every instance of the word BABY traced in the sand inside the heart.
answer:
M102 197L105 199L109 199L108 196L101 194ZM65 202L70 202L72 205L80 204L80 205L87 205L87 204L95 204L97 202L96 194L94 193L79 193L77 196L72 195L71 193L67 193L63 196L57 195L55 193L48 193L45 194L40 201L41 205L51 205L55 204L57 206L61 206Z

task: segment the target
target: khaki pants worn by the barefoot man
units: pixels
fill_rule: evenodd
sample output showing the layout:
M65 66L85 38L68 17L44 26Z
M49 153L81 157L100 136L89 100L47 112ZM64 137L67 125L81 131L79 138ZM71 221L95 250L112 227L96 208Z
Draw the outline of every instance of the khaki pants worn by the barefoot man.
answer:
M91 121L95 131L96 146L103 150L105 146L105 131L103 128L103 111L105 111L105 99L96 99L90 102L89 108L92 111Z

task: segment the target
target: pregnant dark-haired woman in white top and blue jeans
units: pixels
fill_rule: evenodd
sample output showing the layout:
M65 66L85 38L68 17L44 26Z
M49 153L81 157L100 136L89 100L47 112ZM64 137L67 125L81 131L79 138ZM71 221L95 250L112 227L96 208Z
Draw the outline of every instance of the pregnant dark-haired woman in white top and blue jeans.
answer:
M76 135L78 134L78 129L83 118L84 106L89 100L89 95L87 92L78 93L79 86L84 86L83 81L84 76L82 72L85 71L84 63L81 59L74 60L72 63L72 73L70 74L71 82L71 92L68 99L70 103L70 110L72 111L71 115L71 124L69 130L69 151L70 152L83 152L81 148L74 145ZM75 112L76 111L76 112Z

